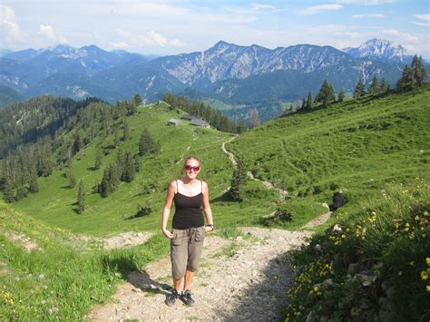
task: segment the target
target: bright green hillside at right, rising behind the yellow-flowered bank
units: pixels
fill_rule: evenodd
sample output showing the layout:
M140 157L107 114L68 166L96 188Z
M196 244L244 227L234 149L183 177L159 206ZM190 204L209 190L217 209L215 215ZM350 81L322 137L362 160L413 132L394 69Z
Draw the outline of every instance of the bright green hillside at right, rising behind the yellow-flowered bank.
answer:
M430 86L336 103L267 122L229 149L257 177L296 195L312 195L318 187L326 192L319 199L328 200L330 186L366 195L386 181L428 176L428 102Z

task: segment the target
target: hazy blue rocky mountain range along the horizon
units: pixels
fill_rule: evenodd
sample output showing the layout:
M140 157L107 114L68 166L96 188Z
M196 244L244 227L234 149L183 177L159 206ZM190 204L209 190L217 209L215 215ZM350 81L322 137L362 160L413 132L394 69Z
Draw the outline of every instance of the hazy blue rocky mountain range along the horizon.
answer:
M203 52L163 57L61 44L3 54L0 85L24 97L53 93L108 102L131 99L135 93L145 102L166 92L183 93L230 108L272 108L276 114L282 102L298 101L308 91L316 94L324 79L336 91L347 92L358 79L369 83L374 75L394 84L411 60L401 45L380 39L343 51L312 44L268 49L220 41Z

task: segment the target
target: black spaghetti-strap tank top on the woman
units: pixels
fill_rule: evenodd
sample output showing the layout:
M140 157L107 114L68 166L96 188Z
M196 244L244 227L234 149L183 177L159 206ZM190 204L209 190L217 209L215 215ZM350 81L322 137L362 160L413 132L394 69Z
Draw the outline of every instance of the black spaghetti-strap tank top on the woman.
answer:
M173 215L173 229L189 229L204 226L201 205L203 204L203 181L201 181L201 192L198 195L188 197L179 191L178 181L173 201L175 202L175 214Z

